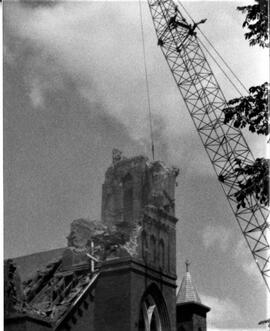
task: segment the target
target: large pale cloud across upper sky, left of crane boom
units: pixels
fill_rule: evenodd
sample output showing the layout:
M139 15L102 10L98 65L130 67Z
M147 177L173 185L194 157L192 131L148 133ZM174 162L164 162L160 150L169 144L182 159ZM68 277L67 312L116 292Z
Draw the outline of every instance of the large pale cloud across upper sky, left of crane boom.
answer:
M20 42L13 56L27 61L25 82L34 107L44 107L49 94L71 80L85 102L101 104L99 111L124 124L136 141L149 141L138 3L5 7L5 33L10 36L5 41L13 50L12 41ZM177 141L168 153L183 155L177 137L188 134L190 127L196 132L156 46L148 10L144 13L153 127L160 131L156 140L163 139L163 150L170 139Z

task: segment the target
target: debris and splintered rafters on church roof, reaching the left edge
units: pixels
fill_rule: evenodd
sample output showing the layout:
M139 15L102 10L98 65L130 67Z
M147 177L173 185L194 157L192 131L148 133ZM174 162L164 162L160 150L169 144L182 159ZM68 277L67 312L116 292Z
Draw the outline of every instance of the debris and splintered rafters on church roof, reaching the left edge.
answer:
M36 272L35 277L15 286L12 261L6 263L5 279L6 316L22 314L58 324L79 298L89 289L98 275L89 264L63 268L62 260L50 263ZM21 288L22 293L16 292ZM7 305L8 303L8 305Z

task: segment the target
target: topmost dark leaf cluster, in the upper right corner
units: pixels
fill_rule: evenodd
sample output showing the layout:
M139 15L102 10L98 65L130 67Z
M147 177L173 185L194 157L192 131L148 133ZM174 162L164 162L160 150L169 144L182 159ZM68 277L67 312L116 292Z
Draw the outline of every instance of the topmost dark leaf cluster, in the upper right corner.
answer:
M258 44L269 47L268 1L255 1L255 5L237 7L242 13L247 13L243 27L249 31L245 33L245 38L249 40L250 46Z

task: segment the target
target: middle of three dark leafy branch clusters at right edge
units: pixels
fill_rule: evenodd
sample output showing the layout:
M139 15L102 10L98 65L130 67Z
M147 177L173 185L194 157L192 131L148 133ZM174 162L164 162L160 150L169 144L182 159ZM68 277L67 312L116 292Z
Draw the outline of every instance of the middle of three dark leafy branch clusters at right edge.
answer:
M224 123L232 122L236 128L245 128L257 134L267 135L269 131L268 120L268 83L253 86L250 94L245 97L235 98L228 102L224 109Z

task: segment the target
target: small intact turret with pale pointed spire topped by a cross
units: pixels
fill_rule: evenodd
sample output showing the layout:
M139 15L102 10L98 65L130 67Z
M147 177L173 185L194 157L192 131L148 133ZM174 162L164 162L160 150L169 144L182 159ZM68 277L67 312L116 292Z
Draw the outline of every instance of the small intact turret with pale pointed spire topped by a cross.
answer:
M189 264L189 261L186 261L186 274L177 294L177 331L206 331L206 315L210 308L201 303L192 283Z

